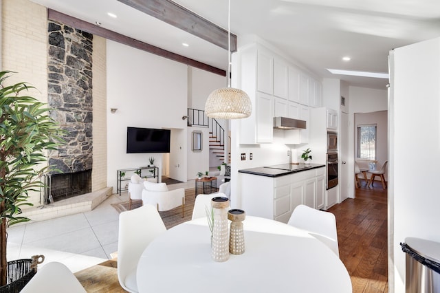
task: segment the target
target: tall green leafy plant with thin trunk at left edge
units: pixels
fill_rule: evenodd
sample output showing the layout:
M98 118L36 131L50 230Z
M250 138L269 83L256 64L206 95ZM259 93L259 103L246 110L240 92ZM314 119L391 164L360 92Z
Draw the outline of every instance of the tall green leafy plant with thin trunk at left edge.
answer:
M7 280L6 228L29 221L22 206L32 206L29 193L43 187L41 176L50 171L45 151L55 150L63 131L50 117L50 109L23 95L27 83L3 85L11 72L0 72L0 285ZM58 142L56 142L58 141Z

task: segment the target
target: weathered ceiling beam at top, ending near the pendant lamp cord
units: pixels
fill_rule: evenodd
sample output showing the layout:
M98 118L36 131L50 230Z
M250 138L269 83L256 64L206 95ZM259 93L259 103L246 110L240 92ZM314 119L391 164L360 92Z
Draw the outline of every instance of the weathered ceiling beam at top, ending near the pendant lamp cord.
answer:
M171 0L118 1L228 50L227 30L199 17L199 15ZM236 35L231 34L230 40L231 52L236 52Z

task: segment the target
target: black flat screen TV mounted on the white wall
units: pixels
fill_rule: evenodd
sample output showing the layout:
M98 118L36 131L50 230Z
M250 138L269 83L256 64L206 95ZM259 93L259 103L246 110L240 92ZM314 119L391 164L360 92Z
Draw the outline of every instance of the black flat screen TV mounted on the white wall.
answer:
M169 153L169 129L126 128L126 153Z

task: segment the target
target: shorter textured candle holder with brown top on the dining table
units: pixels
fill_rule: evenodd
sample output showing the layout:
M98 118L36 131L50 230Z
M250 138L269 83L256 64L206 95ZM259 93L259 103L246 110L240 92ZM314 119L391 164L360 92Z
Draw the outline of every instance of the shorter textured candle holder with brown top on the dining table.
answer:
M246 214L244 210L232 209L228 211L228 219L231 220L229 252L243 254L245 252L245 235L243 233L243 220Z

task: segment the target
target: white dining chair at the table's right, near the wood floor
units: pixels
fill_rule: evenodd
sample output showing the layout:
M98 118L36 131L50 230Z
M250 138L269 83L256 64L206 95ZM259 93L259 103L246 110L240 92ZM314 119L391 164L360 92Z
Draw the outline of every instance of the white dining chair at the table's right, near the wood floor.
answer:
M332 213L300 204L294 209L287 224L306 230L311 236L325 243L339 257L336 217Z

